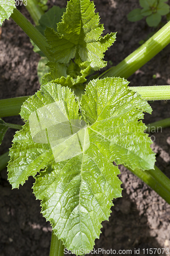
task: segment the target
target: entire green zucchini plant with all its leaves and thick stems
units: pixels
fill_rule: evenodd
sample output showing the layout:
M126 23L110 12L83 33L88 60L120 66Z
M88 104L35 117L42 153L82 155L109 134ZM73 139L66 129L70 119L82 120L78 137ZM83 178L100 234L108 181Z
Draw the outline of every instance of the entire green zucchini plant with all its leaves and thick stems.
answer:
M55 7L52 13L61 21L56 24L49 15L50 23L37 27L13 0L2 0L0 8L1 24L11 16L48 59L49 69L35 95L12 99L12 104L0 101L1 117L18 114L23 102L25 120L22 127L13 125L19 131L9 152L8 180L18 188L29 176L35 178L34 194L53 228L51 256L62 255L64 246L84 255L99 238L113 198L121 197L118 164L170 203L170 181L155 166L142 123L144 112L152 112L147 100L170 99L169 86L132 88L125 79L170 42L170 24L118 66L94 77L107 65L104 53L116 33L102 36L92 1L70 0L64 13ZM8 127L12 124L1 119L1 141Z

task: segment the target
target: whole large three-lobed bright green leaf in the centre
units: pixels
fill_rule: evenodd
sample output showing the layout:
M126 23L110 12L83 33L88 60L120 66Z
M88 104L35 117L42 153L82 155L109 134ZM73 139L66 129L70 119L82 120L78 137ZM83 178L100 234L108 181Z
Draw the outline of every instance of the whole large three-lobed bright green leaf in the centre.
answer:
M14 136L8 178L14 188L40 173L34 194L67 249L92 249L112 199L121 196L113 161L154 168L151 140L138 121L151 108L127 85L96 79L76 101L70 89L47 83L22 105L27 122Z

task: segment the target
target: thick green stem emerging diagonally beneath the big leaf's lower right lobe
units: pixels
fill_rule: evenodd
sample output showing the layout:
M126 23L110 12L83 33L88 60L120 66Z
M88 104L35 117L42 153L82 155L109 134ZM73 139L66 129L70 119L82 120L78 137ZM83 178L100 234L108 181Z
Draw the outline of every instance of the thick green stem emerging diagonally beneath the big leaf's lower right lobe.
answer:
M155 170L141 170L136 168L132 170L127 167L133 174L144 181L156 193L161 196L168 204L170 204L170 180L155 165Z

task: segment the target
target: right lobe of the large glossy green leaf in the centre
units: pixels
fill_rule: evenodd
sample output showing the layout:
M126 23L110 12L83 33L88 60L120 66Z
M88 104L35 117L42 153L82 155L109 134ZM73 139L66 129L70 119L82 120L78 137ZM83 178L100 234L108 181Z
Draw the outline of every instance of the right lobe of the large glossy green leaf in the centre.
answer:
M142 111L152 110L139 94L127 89L128 83L122 78L91 81L82 96L82 111L85 121L91 124L95 143L103 148L107 159L132 169L152 169L152 141L143 133L146 126L138 122L143 118Z

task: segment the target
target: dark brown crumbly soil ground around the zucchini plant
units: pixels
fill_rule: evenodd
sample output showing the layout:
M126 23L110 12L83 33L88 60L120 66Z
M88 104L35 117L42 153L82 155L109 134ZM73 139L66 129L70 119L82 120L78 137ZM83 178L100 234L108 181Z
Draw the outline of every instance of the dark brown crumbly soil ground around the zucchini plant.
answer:
M95 0L96 11L104 23L105 33L117 31L114 45L105 59L117 65L139 47L139 41L153 31L140 20L130 23L127 14L139 7L138 0ZM64 7L66 1L51 0L48 5ZM32 22L27 10L19 8ZM13 22L7 20L0 37L0 98L34 94L39 89L37 77L38 54L32 51L29 37ZM110 68L108 64L108 68ZM153 78L156 75L156 78ZM170 84L170 45L150 60L128 79L130 86ZM169 117L170 102L151 102L153 114L145 115L145 123ZM4 118L7 122L20 123L19 116ZM11 145L14 130L9 130L1 145L1 154ZM157 154L157 166L170 178L170 131L153 134L153 150ZM170 205L155 191L120 166L123 197L114 200L109 222L103 222L100 239L95 249L132 250L147 255L150 248L170 249ZM0 256L47 256L50 250L51 226L40 214L40 202L32 194L33 178L11 190L7 170L0 173ZM145 251L143 251L145 249ZM125 252L125 251L124 251ZM100 252L100 254L105 254ZM116 253L118 254L118 252ZM155 255L162 254L157 251ZM120 255L120 253L119 253ZM125 252L124 255L129 255ZM164 255L168 255L167 250Z

